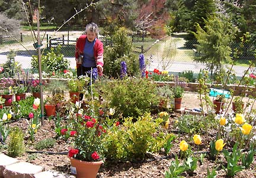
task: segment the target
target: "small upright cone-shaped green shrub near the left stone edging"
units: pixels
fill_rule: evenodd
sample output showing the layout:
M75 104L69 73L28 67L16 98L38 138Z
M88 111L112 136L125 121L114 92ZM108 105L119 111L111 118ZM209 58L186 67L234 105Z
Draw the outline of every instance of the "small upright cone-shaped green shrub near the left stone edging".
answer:
M25 151L24 134L18 127L14 127L9 135L8 156L21 156Z

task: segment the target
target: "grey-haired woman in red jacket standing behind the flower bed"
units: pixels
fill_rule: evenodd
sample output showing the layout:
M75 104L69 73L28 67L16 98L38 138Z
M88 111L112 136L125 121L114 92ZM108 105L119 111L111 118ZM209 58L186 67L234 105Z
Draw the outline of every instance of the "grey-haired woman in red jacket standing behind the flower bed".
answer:
M97 70L98 75L103 75L103 43L98 40L99 28L95 23L90 23L85 28L85 35L81 35L76 41L75 59L76 72L81 75L90 76L91 70ZM79 61L79 57L82 58ZM80 100L83 98L80 94Z

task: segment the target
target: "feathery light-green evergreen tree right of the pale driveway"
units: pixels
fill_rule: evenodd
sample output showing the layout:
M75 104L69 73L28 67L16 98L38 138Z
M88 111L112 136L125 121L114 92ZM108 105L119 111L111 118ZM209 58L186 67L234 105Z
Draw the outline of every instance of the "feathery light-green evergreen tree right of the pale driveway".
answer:
M231 60L231 44L235 37L236 28L224 19L212 16L205 22L204 29L196 23L197 33L194 33L199 45L197 51L199 56L195 57L196 62L206 64L207 69L213 72L220 72L222 70L222 63Z

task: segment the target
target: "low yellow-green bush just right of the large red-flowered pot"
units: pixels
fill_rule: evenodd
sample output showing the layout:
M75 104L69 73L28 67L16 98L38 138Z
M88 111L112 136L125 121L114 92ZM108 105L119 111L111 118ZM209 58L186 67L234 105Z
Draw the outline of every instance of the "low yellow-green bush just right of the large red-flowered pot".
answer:
M107 143L105 156L113 160L143 160L147 153L159 151L171 135L158 132L158 121L153 121L150 114L125 118L123 125L114 125L105 137Z

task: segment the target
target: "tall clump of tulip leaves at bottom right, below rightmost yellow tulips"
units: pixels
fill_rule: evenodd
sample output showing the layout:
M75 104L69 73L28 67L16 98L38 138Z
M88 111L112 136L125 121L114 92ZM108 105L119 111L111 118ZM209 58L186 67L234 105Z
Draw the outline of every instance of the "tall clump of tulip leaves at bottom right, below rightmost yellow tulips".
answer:
M235 143L232 149L232 153L229 153L228 150L223 150L223 154L226 158L226 161L228 162L228 165L225 169L225 167L222 166L222 168L226 171L226 175L228 177L235 176L236 173L243 170L245 167L239 165L238 161L242 157L241 150L238 148L238 143Z

